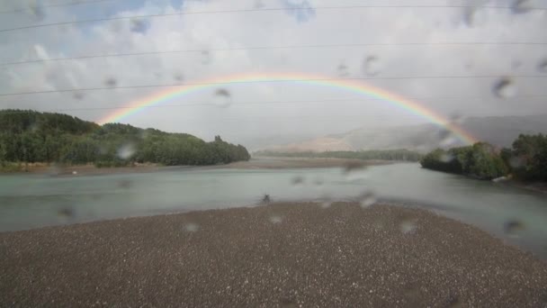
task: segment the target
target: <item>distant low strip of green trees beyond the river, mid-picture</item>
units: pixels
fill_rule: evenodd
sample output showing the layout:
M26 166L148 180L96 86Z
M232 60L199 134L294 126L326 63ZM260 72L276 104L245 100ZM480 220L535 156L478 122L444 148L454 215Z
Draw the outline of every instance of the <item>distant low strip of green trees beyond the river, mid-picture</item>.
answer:
M338 150L326 152L274 152L258 151L257 156L288 157L288 158L323 158L323 159L381 159L381 160L400 160L400 161L418 161L422 159L422 154L408 149L383 149L383 150Z

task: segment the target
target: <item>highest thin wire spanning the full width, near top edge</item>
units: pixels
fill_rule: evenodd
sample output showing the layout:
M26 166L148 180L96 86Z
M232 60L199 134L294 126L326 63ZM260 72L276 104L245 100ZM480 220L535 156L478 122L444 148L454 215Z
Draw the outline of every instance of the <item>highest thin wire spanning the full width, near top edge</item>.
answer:
M32 24L28 26L16 27L2 29L0 32L12 32L17 30L24 29L33 29L33 28L42 28L58 25L67 25L67 24L76 24L76 23L96 23L96 22L107 22L107 21L116 21L116 20L131 20L131 19L141 19L141 18L158 18L158 17L168 17L168 16L182 16L182 15L191 15L191 14L234 14L234 13L254 13L254 12L279 12L279 11L303 11L303 10L345 10L345 9L367 9L367 8L477 8L473 5L345 5L345 6L319 6L319 7L277 7L277 8L252 8L252 9L239 9L239 10L217 10L217 11L197 11L197 12L179 12L179 13L169 13L169 14L142 14L134 16L120 16L120 17L105 17L105 18L94 18L94 19L85 19L73 22L61 22L61 23L42 23L42 24ZM480 9L489 9L489 10L514 10L513 6L480 6ZM530 11L547 11L547 8L544 7L531 7Z

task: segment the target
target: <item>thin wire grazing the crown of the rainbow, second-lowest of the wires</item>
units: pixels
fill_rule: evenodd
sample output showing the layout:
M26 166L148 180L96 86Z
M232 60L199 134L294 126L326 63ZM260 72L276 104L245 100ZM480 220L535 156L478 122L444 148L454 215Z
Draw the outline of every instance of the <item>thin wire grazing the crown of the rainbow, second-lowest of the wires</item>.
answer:
M414 76L414 77L352 77L352 78L314 78L314 79L265 79L265 80L250 80L250 81L227 81L213 83L179 83L170 85L142 85L142 86L98 86L87 88L74 89L59 89L59 90L43 90L43 91L28 91L16 93L3 93L0 96L15 96L15 95L37 95L51 94L64 92L84 92L84 91L99 91L113 89L135 89L135 88L157 88L157 87L172 87L172 86L227 86L241 84L258 84L258 83L283 83L283 82L318 82L318 81L343 81L343 80L399 80L399 79L464 79L464 78L499 78L499 75L484 75L484 76ZM518 78L547 78L547 75L511 75L507 77Z

